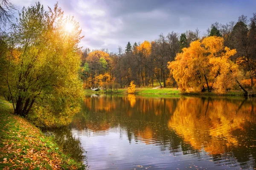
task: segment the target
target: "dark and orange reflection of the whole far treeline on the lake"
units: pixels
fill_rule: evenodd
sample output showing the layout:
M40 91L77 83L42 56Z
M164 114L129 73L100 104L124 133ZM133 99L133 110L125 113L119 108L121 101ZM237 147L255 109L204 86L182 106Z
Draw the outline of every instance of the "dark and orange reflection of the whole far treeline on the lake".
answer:
M73 122L80 130L85 128L81 124L96 131L120 126L130 142L156 144L161 150L198 156L200 150L205 150L215 160L224 157L247 162L241 163L243 168L255 164L254 100L97 96L87 97L84 104L80 115L84 122Z

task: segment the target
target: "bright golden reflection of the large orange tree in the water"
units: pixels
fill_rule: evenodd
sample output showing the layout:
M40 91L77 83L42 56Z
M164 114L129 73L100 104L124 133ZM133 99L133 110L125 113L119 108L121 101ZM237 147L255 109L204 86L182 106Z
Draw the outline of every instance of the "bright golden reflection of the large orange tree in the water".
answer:
M254 112L253 107L244 104L239 108L239 102L242 103L181 98L168 126L197 150L204 148L211 154L224 153L226 147L238 145L231 132L244 130L245 122L254 120L250 114Z

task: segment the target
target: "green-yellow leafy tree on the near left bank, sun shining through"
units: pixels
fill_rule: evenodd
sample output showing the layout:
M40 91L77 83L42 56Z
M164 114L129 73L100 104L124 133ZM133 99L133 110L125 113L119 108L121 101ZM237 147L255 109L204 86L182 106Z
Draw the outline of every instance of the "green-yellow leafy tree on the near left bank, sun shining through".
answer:
M55 4L23 8L7 40L2 78L14 112L38 125L67 124L79 111L81 29Z

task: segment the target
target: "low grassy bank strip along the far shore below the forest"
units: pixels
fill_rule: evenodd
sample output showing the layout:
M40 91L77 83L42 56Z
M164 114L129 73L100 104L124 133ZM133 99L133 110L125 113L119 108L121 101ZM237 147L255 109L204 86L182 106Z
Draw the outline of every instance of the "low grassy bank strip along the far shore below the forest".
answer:
M99 94L128 94L127 89L118 89L118 92L116 90L112 89L107 90L101 90L101 91L93 91L90 89L84 89L84 93L99 93ZM218 94L214 92L180 92L179 89L136 89L135 95L200 95L200 96L244 96L244 92L237 92L237 91L231 91L224 94Z

